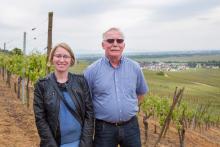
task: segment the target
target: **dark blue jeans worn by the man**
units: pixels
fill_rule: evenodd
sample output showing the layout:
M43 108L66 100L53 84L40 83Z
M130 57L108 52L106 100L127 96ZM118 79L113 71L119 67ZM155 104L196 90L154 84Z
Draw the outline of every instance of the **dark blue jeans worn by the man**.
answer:
M95 147L141 147L140 129L137 117L124 125L116 126L96 121Z

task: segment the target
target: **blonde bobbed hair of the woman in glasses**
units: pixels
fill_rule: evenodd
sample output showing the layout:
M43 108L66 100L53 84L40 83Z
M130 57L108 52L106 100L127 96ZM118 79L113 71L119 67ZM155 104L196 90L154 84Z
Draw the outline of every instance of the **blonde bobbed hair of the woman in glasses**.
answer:
M49 56L49 66L53 64L53 56L54 56L54 53L56 51L56 49L58 47L62 47L64 48L71 56L71 63L70 63L70 66L73 66L75 64L75 56L74 56L74 53L72 51L72 49L70 48L70 46L64 42L61 42L61 43L58 43L56 46L54 46L54 48L50 51L50 56Z

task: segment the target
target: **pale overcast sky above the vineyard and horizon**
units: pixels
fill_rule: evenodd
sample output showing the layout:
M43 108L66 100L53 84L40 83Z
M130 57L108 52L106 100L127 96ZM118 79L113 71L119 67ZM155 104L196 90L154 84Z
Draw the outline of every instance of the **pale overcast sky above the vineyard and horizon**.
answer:
M220 49L220 0L0 0L0 48L45 52L48 12L53 45L101 53L102 33L118 27L126 52ZM32 28L36 28L32 31Z

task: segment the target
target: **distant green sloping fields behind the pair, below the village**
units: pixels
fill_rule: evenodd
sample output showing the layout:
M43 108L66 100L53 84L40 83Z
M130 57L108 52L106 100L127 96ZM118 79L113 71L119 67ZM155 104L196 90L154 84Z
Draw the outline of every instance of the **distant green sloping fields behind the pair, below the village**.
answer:
M89 65L79 61L70 72L83 73ZM158 96L173 97L175 87L185 87L183 100L192 107L196 104L211 103L210 111L220 114L220 69L190 69L180 72L165 72L158 75L156 71L144 70L150 93Z

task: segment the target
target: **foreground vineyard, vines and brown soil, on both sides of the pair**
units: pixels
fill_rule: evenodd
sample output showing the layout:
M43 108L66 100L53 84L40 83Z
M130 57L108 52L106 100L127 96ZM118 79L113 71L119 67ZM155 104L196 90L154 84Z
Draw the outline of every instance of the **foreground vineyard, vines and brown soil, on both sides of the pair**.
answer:
M85 67L79 63L73 70L82 72ZM0 143L3 146L30 147L37 146L39 143L33 119L32 94L33 83L45 76L45 71L44 55L35 53L24 56L16 53L0 53L0 108L3 112L1 116L5 117L0 120L0 138L3 137ZM144 73L146 74L146 71ZM24 93L22 82L25 85ZM151 84L149 83L150 88ZM217 115L220 109L219 103L214 105L203 101L192 105L190 104L192 101L185 99L185 94L188 96L188 89L184 86L176 88L172 86L172 94L168 96L156 95L156 89L153 88L154 86L141 104L138 113L143 146L220 146L220 115ZM219 92L217 87L217 94ZM214 109L218 110L211 113ZM13 127L9 122L15 127L13 130L10 130ZM19 134L20 136L23 134L23 139L13 137ZM7 144L5 140L8 139L12 140ZM14 141L19 142L19 139L28 145L19 143L13 145Z

